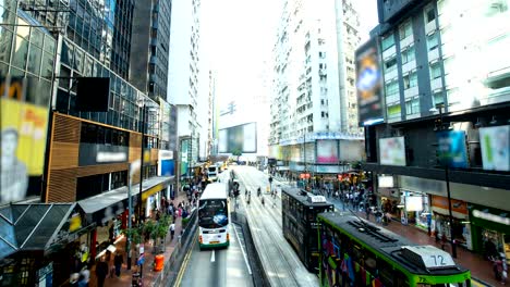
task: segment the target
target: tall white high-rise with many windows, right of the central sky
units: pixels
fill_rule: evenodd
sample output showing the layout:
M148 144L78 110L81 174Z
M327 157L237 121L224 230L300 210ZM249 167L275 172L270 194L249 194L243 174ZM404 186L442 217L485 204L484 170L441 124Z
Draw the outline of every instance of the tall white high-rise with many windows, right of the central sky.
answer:
M354 86L359 26L351 1L286 1L274 48L269 135L270 157L287 166L281 169L339 173L340 165L362 160ZM339 155L344 140L360 146L353 157ZM329 150L335 154L325 160Z

